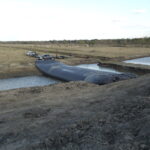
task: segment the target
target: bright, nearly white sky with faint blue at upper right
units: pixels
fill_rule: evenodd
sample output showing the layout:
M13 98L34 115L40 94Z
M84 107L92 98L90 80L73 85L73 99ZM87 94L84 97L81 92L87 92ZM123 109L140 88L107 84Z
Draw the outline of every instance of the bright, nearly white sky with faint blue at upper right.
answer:
M0 41L150 37L149 0L0 0Z

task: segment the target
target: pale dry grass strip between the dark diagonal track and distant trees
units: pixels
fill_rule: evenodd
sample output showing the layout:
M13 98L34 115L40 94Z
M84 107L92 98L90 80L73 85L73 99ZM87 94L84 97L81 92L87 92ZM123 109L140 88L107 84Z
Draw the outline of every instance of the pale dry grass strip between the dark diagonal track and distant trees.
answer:
M150 56L150 48L145 47L108 47L108 46L79 46L63 44L1 44L0 47L13 48L14 50L34 50L58 54L72 54L81 57L98 57L108 59L132 59Z

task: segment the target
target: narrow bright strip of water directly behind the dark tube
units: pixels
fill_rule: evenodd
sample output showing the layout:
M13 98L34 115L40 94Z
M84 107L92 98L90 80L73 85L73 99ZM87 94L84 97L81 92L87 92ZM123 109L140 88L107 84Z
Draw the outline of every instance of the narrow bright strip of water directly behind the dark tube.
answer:
M97 64L82 64L82 65L78 65L78 67L120 74L120 72L118 72L118 71L115 70L115 69L106 68L106 67L101 67L101 66L99 66L99 65L97 65Z

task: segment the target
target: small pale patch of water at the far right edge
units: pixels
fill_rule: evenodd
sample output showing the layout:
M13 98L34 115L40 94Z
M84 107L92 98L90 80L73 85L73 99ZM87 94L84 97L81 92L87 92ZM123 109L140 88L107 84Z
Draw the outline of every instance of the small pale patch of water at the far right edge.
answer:
M125 63L150 65L150 57L137 58L132 60L126 60Z

